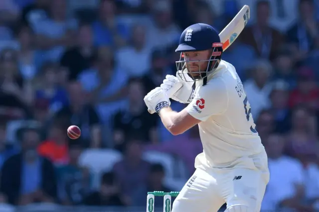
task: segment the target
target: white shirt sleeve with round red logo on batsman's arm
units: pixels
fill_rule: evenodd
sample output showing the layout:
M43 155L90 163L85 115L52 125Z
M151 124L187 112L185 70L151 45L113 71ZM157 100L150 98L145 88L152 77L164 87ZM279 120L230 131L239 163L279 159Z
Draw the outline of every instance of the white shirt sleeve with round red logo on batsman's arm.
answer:
M206 121L211 115L224 112L228 106L228 92L221 78L212 79L195 93L195 98L186 107L194 118Z

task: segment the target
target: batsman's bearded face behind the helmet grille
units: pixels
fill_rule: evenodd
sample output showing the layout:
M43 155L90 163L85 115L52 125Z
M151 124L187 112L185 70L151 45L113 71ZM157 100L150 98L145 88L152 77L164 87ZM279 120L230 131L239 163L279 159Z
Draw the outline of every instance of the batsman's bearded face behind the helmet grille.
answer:
M192 77L199 76L208 66L211 50L183 52L187 71Z

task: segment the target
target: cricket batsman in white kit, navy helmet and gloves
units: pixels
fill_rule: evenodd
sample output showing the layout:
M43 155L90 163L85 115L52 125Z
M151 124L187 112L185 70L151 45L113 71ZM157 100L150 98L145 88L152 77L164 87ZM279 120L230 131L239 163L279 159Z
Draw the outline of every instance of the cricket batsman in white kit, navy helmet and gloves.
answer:
M145 96L149 112L178 135L199 126L203 152L172 212L259 212L269 181L267 154L236 70L221 60L222 43L210 25L196 23L181 34L176 77L167 75ZM188 104L177 112L169 99ZM182 147L181 147L182 148Z

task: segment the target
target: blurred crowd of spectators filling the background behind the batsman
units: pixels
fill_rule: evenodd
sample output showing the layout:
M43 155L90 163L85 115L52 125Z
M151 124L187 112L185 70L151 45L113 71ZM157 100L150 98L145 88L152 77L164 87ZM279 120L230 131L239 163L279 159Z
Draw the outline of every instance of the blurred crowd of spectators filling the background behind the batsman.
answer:
M269 156L262 210L318 211L319 0L0 0L0 211L143 212L148 191L180 191L198 128L170 135L143 98L185 27L221 31L244 4L222 58Z

